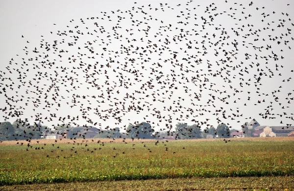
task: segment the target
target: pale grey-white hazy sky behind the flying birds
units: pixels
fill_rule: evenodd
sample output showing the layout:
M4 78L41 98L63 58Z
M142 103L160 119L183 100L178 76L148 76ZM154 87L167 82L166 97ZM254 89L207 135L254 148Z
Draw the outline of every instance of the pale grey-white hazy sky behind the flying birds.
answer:
M0 121L294 124L293 6L1 0Z

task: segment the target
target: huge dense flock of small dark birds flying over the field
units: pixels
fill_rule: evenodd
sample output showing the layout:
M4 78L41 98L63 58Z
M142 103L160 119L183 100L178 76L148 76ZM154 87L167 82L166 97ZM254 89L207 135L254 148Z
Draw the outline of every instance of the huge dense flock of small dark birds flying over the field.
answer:
M0 73L0 99L5 100L0 112L5 120L17 119L15 129L21 130L15 137L27 142L27 151L31 139L52 134L71 136L70 144L81 148L96 144L91 134L112 141L120 136L133 142L151 138L158 147L160 139L168 151L169 141L164 137L199 138L201 131L211 133L212 121L216 125L228 120L241 123L241 112L246 109L265 119L293 120L289 114L293 95L282 93L290 92L285 83L292 84L291 74L282 72L293 72L283 61L294 40L289 14L279 13L277 22L270 15L278 11L260 14L266 7L253 7L253 1L246 5L225 2L222 8L218 6L221 2L207 7L193 1L187 6L159 3L158 7L140 7L134 2L125 12L105 11L97 17L72 19L66 31L55 31L58 25L53 24L48 36L42 35L32 47L28 45L33 42L22 35L24 43L29 43L24 56L9 60ZM155 14L167 10L172 12L171 19ZM251 22L253 16L257 24ZM219 20L232 25L216 22ZM104 24L113 27L102 27ZM265 82L273 78L277 85L267 87ZM67 110L78 114L69 115ZM33 114L27 119L25 113ZM125 127L102 127L101 123L111 121L117 126L125 123ZM81 122L86 124L81 127ZM53 128L43 128L46 123L54 123ZM66 126L72 125L81 128L71 132L74 128ZM91 125L100 129L91 129ZM228 136L228 131L220 136ZM92 142L74 141L86 138ZM52 142L58 145L57 140ZM101 141L97 144L104 146Z

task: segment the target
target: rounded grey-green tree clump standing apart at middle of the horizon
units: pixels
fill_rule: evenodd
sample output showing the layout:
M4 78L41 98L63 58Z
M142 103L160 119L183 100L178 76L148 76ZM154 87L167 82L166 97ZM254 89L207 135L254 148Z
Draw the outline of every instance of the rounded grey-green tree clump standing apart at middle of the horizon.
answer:
M129 138L155 138L155 136L153 136L154 129L146 122L137 125L129 125L126 128L126 132Z

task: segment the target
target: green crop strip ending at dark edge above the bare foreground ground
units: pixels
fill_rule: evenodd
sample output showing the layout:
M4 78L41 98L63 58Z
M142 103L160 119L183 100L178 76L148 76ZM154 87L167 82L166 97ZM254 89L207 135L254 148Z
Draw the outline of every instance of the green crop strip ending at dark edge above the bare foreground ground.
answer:
M57 142L54 146L42 143L44 149L40 150L35 148L42 145L32 143L33 148L28 151L25 145L7 144L0 146L0 185L294 176L294 144L282 141L284 139L234 139L229 143L161 141L157 144L127 140L127 144L108 142L103 143L104 146L94 141L89 141L87 146ZM76 153L71 150L73 147Z

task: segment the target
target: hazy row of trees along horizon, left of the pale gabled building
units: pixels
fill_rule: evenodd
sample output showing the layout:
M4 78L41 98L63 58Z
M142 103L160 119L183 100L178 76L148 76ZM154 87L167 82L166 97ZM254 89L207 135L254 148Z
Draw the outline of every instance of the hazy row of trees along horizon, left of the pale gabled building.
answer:
M86 129L86 127L84 128ZM67 138L83 138L85 137L71 125L58 125L54 127L58 134L65 134ZM243 129L245 130L245 129ZM140 124L129 124L126 128L119 127L100 129L98 135L93 138L167 138L173 137L175 139L195 139L206 138L207 135L212 137L230 137L230 134L237 130L230 130L229 127L220 123L217 128L211 126L201 130L197 124L188 125L187 123L177 123L175 129L161 128L155 131L150 123L142 122ZM55 134L52 129L41 124L30 125L29 123L19 123L18 121L11 124L8 121L0 123L0 140L25 140L25 139L39 139L49 134Z

